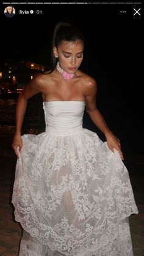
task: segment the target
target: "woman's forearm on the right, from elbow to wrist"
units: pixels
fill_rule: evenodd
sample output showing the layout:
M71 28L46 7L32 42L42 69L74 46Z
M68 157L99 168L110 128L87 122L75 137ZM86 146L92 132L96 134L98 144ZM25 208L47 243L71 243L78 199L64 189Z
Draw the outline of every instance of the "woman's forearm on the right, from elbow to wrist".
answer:
M98 109L87 112L88 115L90 115L90 118L92 119L93 123L95 123L95 125L99 128L99 130L102 133L104 133L105 136L107 136L107 134L112 133L112 131L110 131L109 127L107 126L107 123L104 120L103 115L101 114L101 112L98 111Z

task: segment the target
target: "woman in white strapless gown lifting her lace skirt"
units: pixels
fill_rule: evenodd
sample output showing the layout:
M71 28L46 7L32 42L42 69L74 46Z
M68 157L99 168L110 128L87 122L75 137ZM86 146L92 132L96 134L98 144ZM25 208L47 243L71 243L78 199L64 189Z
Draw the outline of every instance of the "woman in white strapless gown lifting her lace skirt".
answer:
M20 256L133 255L128 216L137 206L120 141L96 107L96 81L79 70L83 55L81 32L58 23L51 71L18 99L12 203L24 229ZM39 92L46 131L21 136L27 100ZM82 128L85 107L106 142Z

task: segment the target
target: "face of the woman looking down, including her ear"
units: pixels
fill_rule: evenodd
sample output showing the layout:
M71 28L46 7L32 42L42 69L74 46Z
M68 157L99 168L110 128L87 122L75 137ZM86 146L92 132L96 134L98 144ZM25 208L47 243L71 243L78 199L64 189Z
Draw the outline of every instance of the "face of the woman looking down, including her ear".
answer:
M83 60L84 43L82 41L62 41L58 48L54 47L54 56L59 58L59 64L69 74L79 68Z

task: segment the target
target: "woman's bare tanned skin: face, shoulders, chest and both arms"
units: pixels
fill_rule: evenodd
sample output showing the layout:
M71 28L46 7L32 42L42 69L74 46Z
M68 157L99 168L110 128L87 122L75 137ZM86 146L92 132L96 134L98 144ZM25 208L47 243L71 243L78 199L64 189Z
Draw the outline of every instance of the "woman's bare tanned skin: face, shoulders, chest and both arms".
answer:
M50 74L37 74L21 92L16 106L16 128L12 142L17 157L19 157L23 147L21 128L27 100L41 92L43 101L85 101L87 113L93 123L104 133L109 149L112 152L118 150L121 159L124 159L120 140L109 129L103 115L96 107L96 80L79 70L83 60L83 52L84 43L80 40L60 42L58 47L53 48L53 54L59 58L60 67L69 74L74 74L74 78L63 79L62 74L55 68Z

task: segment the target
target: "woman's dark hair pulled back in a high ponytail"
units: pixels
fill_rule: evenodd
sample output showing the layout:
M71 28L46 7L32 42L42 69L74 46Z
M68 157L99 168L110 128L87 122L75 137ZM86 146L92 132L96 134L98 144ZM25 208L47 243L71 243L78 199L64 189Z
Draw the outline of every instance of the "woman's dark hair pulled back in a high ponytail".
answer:
M52 72L56 68L58 61L58 58L56 58L53 54L53 48L59 47L59 44L62 41L75 42L77 40L84 42L84 35L77 28L77 26L74 26L71 23L67 22L57 23L52 36L50 72Z

